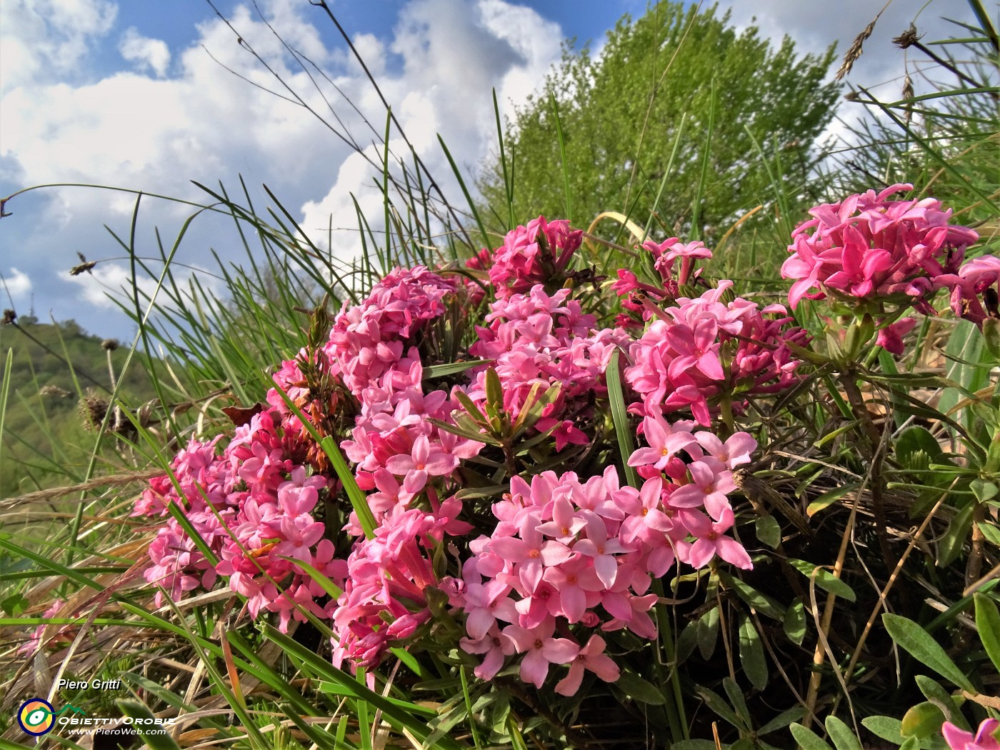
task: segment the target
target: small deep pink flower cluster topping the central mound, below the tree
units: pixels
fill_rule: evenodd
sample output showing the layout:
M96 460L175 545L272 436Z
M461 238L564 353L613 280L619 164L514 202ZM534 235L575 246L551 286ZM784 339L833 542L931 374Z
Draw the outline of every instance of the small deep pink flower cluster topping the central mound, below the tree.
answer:
M583 232L571 230L565 219L550 222L544 216L509 231L503 246L493 251L489 266L497 299L527 292L536 284L562 286L566 267L582 241ZM482 267L485 258L477 260Z

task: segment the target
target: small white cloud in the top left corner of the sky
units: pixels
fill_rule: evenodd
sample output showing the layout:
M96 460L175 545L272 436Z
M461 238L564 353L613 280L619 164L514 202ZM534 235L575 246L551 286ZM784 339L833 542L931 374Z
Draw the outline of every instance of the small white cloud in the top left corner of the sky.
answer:
M93 40L111 29L117 12L108 0L4 0L0 92L73 72Z

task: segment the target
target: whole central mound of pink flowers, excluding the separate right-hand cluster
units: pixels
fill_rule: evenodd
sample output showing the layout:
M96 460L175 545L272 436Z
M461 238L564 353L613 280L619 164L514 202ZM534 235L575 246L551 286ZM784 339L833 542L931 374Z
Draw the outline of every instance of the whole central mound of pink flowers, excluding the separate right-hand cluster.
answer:
M251 615L276 613L282 628L307 615L331 619L335 661L364 667L432 627L435 607L447 597L467 632L462 648L483 657L480 677L519 654L522 677L538 686L552 665L566 666L556 689L567 695L586 671L617 679L601 634L655 636L654 576L676 562L703 567L715 557L751 564L730 535L728 494L735 489L732 468L749 460L754 440L736 433L722 441L690 420L670 424L663 414L690 408L707 425L709 399L723 389L785 387L798 364L788 342L804 334L787 328L780 305L723 302L730 282L701 297L678 297L700 278L695 262L711 253L676 238L646 246L662 284L636 289L662 308L642 305L644 315L657 316L645 334L633 340L621 327L599 328L572 291L559 288L573 273L568 264L580 241L567 222L539 217L509 233L492 257L477 258L473 265L489 267L496 299L468 353L489 360L511 422L533 391L558 386L534 429L560 451L597 438L606 369L615 351L627 350L627 397L644 417L646 445L628 457L640 488L621 486L614 467L594 477L514 476L510 492L492 506L496 523L480 519L474 527L455 491L466 462L492 460L480 456L485 439L447 428L462 403L485 405L487 366L468 370L465 384L451 390L425 385L425 367L442 361L440 321L468 301L470 289L424 267L397 268L337 315L320 351L303 350L282 364L270 408L237 427L228 445L192 441L173 462L176 484L166 477L151 482L136 513L164 517L176 504L211 554L164 517L147 579L179 598L226 577ZM631 282L619 277L616 291L627 293ZM318 403L314 378L329 386L320 389L331 394L327 403ZM331 528L329 498L339 483L318 470L324 459L279 389L317 428L329 429L327 417L353 416L340 447L366 494L373 533L366 536L353 511L342 530ZM474 528L482 535L461 541ZM338 544L350 545L346 560L337 558ZM460 576L443 572L446 550L458 551ZM312 571L341 589L335 601Z

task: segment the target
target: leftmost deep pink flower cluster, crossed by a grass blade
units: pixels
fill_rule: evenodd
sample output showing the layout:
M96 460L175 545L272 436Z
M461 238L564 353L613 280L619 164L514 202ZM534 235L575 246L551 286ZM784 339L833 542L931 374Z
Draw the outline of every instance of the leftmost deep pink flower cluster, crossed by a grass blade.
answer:
M280 414L267 410L236 428L233 440L216 455L218 438L192 440L172 463L177 487L168 477L150 482L133 515L165 515L167 504L184 510L188 522L218 559L213 564L177 519L166 519L150 544L152 565L145 577L177 600L198 587L210 589L219 575L247 597L252 616L276 612L283 630L305 612L329 617L332 607L317 600L326 592L298 563L343 582L346 563L334 559L323 539L324 525L313 517L330 480L307 476L306 445L282 428ZM162 603L162 593L156 596Z

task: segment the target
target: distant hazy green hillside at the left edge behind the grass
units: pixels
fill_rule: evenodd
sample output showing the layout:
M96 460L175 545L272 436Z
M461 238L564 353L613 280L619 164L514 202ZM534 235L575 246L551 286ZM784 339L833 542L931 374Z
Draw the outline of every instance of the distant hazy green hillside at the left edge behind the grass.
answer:
M114 348L116 343L105 343L72 320L49 324L22 317L0 326L0 399L7 393L0 497L83 479L96 438L85 426L84 402L91 403L99 418L112 390L108 349L116 377L128 355L126 348ZM152 396L146 371L133 359L119 397L138 405Z

